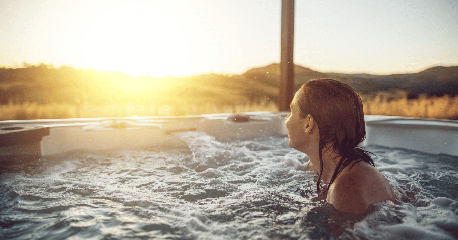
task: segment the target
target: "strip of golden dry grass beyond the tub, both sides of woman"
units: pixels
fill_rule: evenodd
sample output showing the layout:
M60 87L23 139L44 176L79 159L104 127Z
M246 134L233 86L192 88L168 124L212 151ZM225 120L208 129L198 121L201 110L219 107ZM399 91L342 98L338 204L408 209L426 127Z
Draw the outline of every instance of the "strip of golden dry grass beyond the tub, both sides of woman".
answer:
M381 96L362 96L364 113L370 115L406 116L458 120L458 96L420 97L418 99L388 99ZM267 98L245 104L70 104L70 103L8 103L0 105L0 120L177 116L210 113L240 113L251 111L278 111L278 106Z

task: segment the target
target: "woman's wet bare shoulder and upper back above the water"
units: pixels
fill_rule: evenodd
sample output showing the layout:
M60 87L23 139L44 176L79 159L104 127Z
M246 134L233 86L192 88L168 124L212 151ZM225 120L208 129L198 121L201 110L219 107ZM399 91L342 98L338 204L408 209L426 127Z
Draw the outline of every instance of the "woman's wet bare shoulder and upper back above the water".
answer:
M330 186L326 200L339 211L361 213L371 203L394 201L394 192L375 167L360 162L342 171Z

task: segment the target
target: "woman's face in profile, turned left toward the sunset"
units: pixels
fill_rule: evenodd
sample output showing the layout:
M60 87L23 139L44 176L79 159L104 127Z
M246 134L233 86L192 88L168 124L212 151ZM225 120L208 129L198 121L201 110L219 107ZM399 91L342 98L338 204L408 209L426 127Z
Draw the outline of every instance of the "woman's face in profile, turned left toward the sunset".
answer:
M297 99L301 95L300 91L301 90L296 92L296 95L291 102L291 112L286 118L285 125L288 129L288 145L303 152L305 150L306 135L304 121L301 118L300 109L297 105Z

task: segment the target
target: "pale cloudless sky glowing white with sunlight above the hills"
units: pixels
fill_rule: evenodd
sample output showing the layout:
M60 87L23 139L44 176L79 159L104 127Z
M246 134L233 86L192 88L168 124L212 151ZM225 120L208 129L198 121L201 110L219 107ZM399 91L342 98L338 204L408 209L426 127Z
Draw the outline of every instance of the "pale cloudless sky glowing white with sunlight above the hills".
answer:
M321 72L458 66L458 1L296 0L294 62ZM241 74L280 61L281 0L0 0L0 66Z

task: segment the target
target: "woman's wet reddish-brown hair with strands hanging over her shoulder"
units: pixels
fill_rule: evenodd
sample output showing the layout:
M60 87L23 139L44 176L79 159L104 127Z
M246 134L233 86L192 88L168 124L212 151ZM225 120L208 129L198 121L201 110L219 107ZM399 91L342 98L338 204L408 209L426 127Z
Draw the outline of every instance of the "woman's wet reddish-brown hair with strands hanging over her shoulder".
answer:
M358 93L349 85L332 79L308 81L301 86L301 90L297 100L301 118L311 114L320 131L317 191L320 191L320 187L327 191L337 174L350 164L351 168L355 163L364 161L374 166L369 155L372 153L358 146L366 137L363 105ZM326 146L332 147L342 158L328 186L323 187L320 180L323 174L323 148Z

